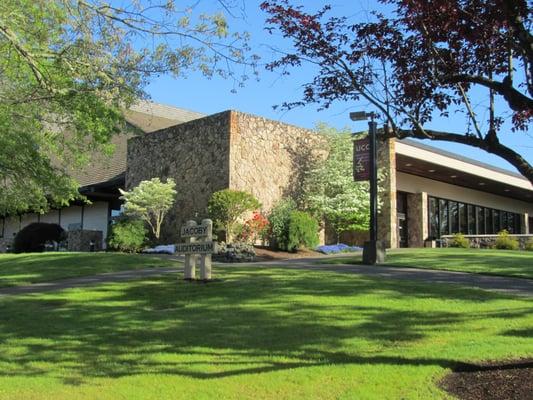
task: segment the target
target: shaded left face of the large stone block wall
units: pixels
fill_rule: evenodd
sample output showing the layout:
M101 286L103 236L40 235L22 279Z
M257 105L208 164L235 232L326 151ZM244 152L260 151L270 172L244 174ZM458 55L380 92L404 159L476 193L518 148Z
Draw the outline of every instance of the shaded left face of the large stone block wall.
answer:
M163 241L176 242L179 227L204 217L211 194L229 187L230 116L225 111L128 141L128 189L154 177L176 181L176 202L161 229Z

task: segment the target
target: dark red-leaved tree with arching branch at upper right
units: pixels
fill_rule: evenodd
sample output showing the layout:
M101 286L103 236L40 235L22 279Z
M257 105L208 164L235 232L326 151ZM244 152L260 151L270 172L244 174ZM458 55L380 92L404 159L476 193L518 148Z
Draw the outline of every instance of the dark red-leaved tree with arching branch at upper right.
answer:
M474 146L533 183L532 165L499 140L504 122L525 131L533 118L533 10L525 0L381 0L392 16L374 13L365 23L327 17L329 6L307 13L290 3L261 5L268 29L294 44L269 68L311 62L318 72L302 100L285 107L364 100L385 118L389 137ZM458 111L466 116L464 133L427 128Z

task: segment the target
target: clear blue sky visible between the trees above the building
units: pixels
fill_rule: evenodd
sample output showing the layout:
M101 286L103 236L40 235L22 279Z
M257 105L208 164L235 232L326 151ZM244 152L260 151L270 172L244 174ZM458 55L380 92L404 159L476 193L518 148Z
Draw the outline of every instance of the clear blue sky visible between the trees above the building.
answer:
M253 51L261 56L261 62L268 62L275 58L271 47L290 49L290 43L279 36L269 35L264 27L265 14L259 9L261 1L242 0L245 6L243 17L229 19L233 30L246 30L252 35ZM306 7L316 10L325 2L311 0L306 2ZM380 7L375 1L333 0L333 12L345 15L353 21L365 21L368 13L375 7ZM383 10L380 10L383 11ZM187 78L174 79L163 76L154 79L147 91L153 101L174 105L193 111L212 114L228 109L239 110L260 115L277 121L282 121L306 128L315 127L318 122L326 122L336 128L349 127L352 131L365 130L367 124L351 122L348 118L350 111L363 110L366 105L348 104L339 102L328 110L317 111L316 105L303 108L280 111L273 106L283 101L299 100L301 86L310 81L314 76L314 69L307 65L292 71L290 76L280 76L260 68L259 81L250 79L244 88L238 88L232 93L232 81L214 77L206 79L199 73L190 73ZM477 99L479 100L479 99ZM474 99L473 103L476 102ZM431 128L444 131L464 132L466 121L463 116L454 116L446 120L436 120ZM500 135L500 140L522 154L526 160L533 163L533 131L527 133L512 133L505 130ZM514 170L506 161L472 147L446 142L426 142L439 148L456 152L458 154L475 158L494 166Z

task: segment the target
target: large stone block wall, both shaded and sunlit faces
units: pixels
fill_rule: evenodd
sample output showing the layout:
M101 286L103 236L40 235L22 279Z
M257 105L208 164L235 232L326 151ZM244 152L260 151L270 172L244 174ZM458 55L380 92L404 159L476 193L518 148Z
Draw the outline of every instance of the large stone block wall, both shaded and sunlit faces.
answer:
M176 181L177 201L161 231L162 241L176 242L181 224L204 217L217 190L252 193L263 211L298 196L311 160L325 156L324 144L310 130L225 111L130 139L126 187L153 177Z

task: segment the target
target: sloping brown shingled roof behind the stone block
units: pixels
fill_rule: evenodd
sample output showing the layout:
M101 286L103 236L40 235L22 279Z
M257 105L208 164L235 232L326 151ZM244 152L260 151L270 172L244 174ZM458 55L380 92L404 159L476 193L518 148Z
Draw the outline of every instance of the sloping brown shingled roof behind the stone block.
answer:
M129 138L136 134L147 134L204 116L205 114L163 104L140 102L125 113L128 124L136 129L112 138L111 143L115 146L113 154L106 156L94 153L88 165L81 170L72 171L71 175L82 188L120 179L126 172ZM136 130L140 133L134 133Z

